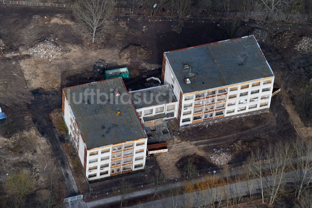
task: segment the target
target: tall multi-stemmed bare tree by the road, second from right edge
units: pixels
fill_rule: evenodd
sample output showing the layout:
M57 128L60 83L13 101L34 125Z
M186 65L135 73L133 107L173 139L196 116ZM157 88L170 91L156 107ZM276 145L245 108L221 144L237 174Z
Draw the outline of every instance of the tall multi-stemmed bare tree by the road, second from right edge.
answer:
M267 191L270 200L269 206L272 206L281 193L285 183L284 174L290 165L291 152L288 143L277 143L274 147L269 146L266 153L268 172L270 176L266 177Z

